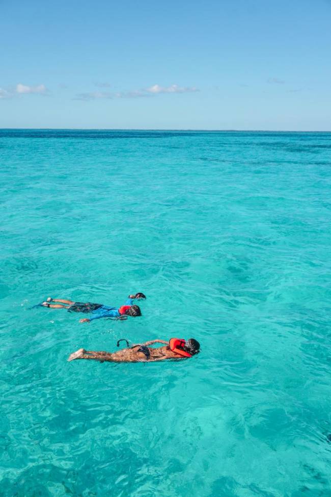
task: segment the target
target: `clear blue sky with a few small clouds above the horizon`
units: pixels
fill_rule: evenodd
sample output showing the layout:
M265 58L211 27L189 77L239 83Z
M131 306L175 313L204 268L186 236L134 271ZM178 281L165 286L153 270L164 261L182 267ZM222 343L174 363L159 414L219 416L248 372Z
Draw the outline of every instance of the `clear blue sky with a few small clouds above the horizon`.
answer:
M0 128L331 131L331 0L0 0Z

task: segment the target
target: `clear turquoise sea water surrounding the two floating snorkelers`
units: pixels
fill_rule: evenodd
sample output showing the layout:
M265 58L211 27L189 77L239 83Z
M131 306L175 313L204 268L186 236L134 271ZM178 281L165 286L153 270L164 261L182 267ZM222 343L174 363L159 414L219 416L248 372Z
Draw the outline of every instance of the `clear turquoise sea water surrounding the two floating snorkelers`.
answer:
M331 134L0 130L0 165L2 496L331 495Z

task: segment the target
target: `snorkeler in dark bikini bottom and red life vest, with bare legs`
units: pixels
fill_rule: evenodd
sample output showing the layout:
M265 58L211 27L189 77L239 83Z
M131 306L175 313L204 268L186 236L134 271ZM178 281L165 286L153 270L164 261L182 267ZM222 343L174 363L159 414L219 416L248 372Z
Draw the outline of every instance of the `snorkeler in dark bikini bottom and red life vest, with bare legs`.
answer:
M117 346L119 346L119 340ZM70 354L68 361L75 359L94 359L100 362L155 362L167 359L188 359L200 352L200 343L194 338L187 342L182 338L171 338L169 342L164 340L150 340L145 343L139 343L129 347L127 340L127 349L118 352L95 352L79 349ZM152 349L148 345L153 343L163 343L164 346Z

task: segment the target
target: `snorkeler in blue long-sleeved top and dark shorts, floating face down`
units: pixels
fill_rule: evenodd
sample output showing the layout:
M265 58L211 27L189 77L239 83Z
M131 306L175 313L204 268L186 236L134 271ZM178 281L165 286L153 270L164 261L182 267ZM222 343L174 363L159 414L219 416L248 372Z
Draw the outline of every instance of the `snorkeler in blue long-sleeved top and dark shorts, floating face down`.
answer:
M85 317L79 319L79 322L90 322L94 319L99 319L100 317L114 317L115 319L126 319L125 316L141 316L142 312L139 306L132 305L133 299L146 299L146 296L142 292L138 292L135 295L129 295L128 300L124 306L119 309L116 307L108 307L103 304L92 304L91 302L73 302L71 300L64 299L52 299L48 297L46 302L41 305L44 307L49 307L50 309L67 309L68 312L84 312L91 313L90 317ZM59 304L51 304L51 302L58 302Z

